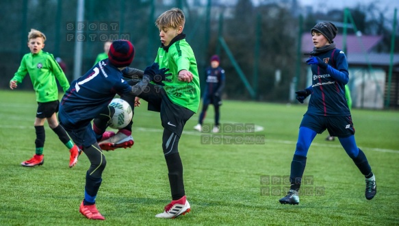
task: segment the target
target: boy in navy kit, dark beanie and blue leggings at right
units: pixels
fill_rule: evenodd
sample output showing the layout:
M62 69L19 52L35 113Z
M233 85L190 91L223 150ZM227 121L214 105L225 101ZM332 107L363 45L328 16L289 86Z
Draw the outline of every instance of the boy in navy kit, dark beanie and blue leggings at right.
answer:
M307 151L316 134L325 129L331 136L337 136L346 153L355 162L365 176L365 198L370 200L376 195L376 179L365 154L355 142L355 128L345 97L345 85L348 83L348 62L342 50L335 48L333 39L337 27L333 23L323 22L311 29L313 51L307 64L311 65L312 85L296 92L296 99L303 103L309 96L309 106L299 127L296 151L291 162L288 194L281 198L281 204L298 204L298 191L305 171Z

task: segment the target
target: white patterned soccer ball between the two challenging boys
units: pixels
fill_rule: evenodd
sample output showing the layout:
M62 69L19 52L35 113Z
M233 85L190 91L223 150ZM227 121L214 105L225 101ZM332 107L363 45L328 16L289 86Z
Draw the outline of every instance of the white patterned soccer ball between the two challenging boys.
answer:
M110 106L115 108L115 114L112 116L109 123L110 127L113 129L122 129L130 123L133 112L129 103L123 99L113 99Z

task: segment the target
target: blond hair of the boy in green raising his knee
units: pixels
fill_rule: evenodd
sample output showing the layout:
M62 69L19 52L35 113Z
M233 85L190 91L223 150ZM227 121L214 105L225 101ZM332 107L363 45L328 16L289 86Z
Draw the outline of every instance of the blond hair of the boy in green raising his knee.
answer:
M183 11L179 8L172 8L164 12L157 18L157 21L155 21L155 25L158 29L164 29L166 27L173 27L176 29L179 26L184 28L184 23L185 16Z

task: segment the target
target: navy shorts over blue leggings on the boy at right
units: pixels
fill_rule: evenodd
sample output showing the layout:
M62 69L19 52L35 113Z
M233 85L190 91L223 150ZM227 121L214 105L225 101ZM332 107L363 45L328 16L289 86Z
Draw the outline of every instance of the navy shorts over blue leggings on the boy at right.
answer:
M322 134L324 130L329 131L330 136L347 138L355 134L352 116L319 116L305 114L300 122L300 127L307 127Z

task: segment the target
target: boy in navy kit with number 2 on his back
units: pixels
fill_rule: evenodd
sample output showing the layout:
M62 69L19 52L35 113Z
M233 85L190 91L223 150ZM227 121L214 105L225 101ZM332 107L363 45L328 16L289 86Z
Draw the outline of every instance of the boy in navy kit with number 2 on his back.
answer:
M105 220L96 209L96 195L101 186L102 173L107 161L97 140L107 128L107 121L114 115L114 108L108 104L115 95L139 95L154 77L164 81L165 70L159 69L159 64L148 66L142 80L135 86L130 86L123 79L121 70L131 64L134 57L134 47L127 40L112 42L108 59L102 60L93 66L85 75L73 81L60 103L58 117L60 124L65 128L75 143L83 148L83 152L90 160L90 168L86 173L84 199L79 212L86 218ZM99 121L93 131L91 121Z

